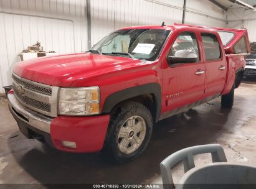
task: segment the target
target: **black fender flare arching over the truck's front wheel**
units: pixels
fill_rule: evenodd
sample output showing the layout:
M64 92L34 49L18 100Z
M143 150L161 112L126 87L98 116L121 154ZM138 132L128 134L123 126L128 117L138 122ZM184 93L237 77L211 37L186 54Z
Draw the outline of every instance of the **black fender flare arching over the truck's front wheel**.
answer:
M162 91L159 83L148 83L145 85L133 86L131 88L126 88L125 90L117 91L113 94L110 94L105 99L102 113L110 113L111 109L113 109L116 106L116 104L143 94L154 95L154 103L156 103L155 121L157 122L160 118L162 106Z

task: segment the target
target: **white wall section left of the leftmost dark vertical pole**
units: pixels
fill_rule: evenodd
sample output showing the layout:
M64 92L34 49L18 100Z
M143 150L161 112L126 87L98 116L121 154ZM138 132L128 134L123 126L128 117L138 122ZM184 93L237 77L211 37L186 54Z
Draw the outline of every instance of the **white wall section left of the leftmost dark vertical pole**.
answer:
M87 50L86 1L0 0L0 92L27 46L58 53Z

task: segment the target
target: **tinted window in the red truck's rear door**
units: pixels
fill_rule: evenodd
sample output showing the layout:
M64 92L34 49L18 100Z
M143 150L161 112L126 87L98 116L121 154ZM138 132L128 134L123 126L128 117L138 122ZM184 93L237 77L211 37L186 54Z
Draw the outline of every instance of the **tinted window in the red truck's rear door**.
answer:
M221 57L220 45L216 35L201 34L206 60L216 60Z

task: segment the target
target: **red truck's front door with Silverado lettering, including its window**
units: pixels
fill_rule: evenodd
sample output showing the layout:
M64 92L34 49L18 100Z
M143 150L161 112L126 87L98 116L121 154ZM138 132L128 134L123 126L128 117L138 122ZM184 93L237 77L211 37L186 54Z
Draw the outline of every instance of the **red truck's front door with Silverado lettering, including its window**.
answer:
M178 34L168 54L168 57L174 57L176 53L186 50L186 52L196 53L196 62L168 64L168 60L164 60L166 61L164 65L168 65L163 69L163 100L165 103L163 111L165 113L186 107L186 104L203 98L206 74L198 37L199 34L196 35L194 32Z

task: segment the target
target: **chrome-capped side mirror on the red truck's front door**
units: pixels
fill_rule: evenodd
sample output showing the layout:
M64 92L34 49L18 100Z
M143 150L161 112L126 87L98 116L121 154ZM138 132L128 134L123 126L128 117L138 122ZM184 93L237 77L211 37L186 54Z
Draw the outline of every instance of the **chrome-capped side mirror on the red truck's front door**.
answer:
M176 63L194 63L197 62L197 60L197 54L192 50L178 50L174 56L167 57L169 65Z

